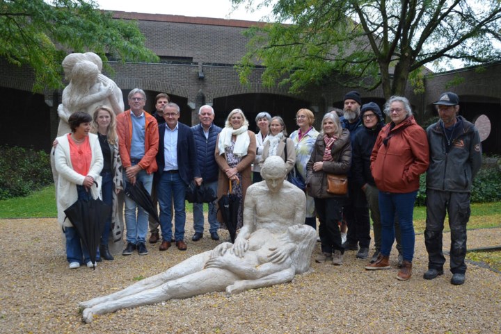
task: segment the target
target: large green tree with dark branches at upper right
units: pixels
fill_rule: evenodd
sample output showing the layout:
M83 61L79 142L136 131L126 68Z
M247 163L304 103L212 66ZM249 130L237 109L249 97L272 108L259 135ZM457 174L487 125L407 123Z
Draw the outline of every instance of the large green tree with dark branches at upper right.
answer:
M256 64L264 85L339 83L386 98L422 88L424 65L501 58L499 0L232 0L233 6L273 4L271 19L246 31L248 51L237 66L242 83Z

